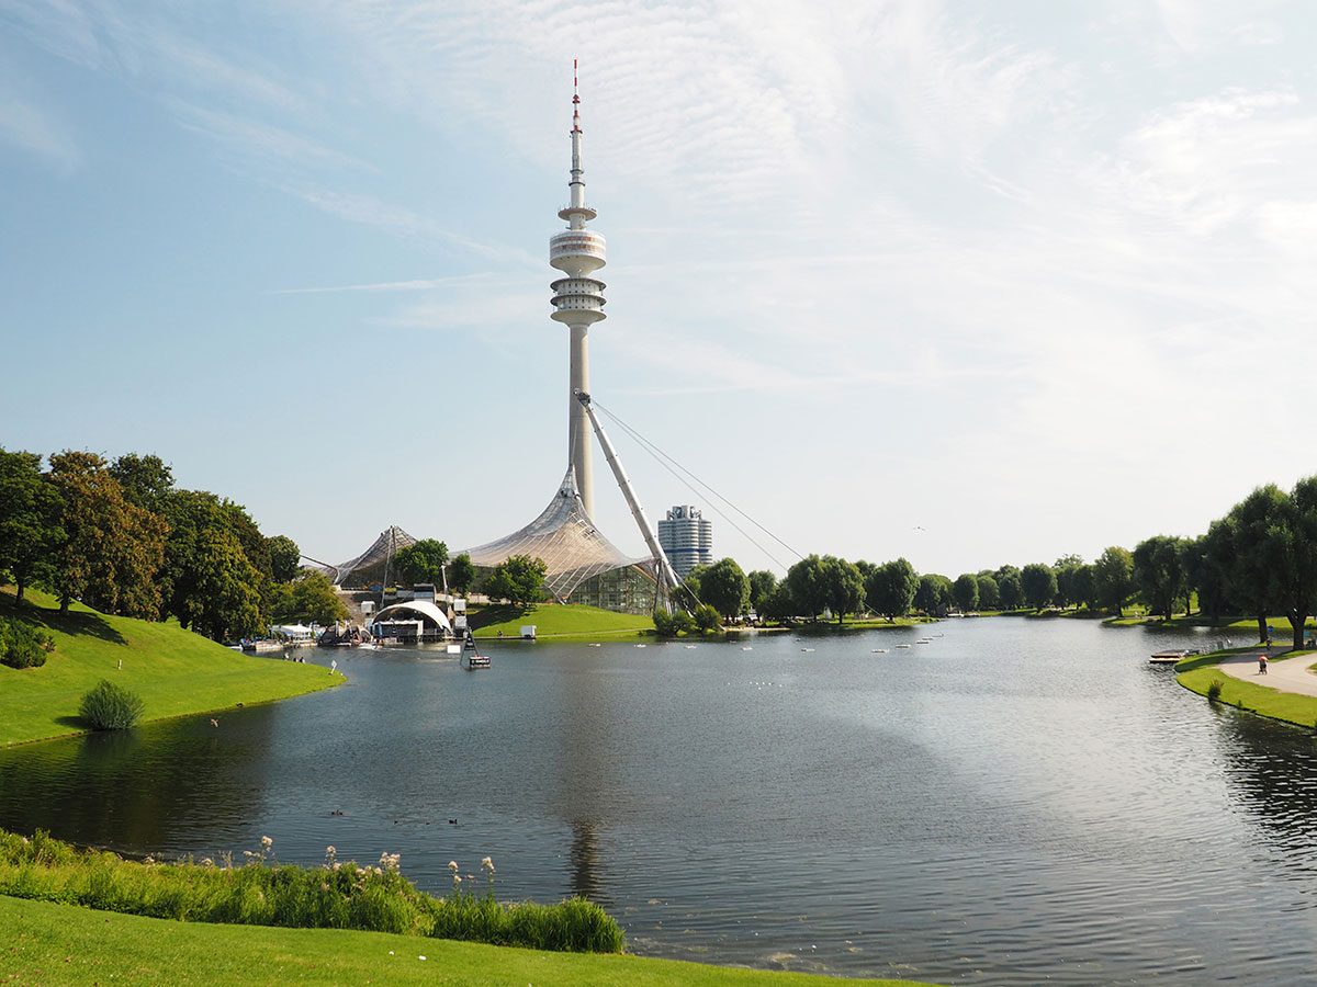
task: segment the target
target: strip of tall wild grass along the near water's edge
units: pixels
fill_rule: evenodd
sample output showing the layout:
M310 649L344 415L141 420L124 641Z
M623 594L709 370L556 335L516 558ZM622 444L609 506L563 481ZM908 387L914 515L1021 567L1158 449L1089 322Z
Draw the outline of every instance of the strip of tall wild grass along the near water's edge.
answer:
M482 863L485 891L462 880L433 898L402 876L398 855L378 866L338 862L333 848L323 867L279 865L270 840L246 865L132 863L116 854L78 850L37 830L29 840L0 830L0 894L180 921L361 929L487 942L527 949L620 953L618 923L579 898L554 905L494 900L494 865Z

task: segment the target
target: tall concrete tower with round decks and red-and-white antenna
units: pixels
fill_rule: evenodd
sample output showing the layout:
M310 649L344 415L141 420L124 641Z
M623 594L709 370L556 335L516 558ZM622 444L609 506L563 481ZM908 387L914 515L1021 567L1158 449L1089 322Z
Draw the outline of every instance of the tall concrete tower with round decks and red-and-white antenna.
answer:
M570 330L570 374L568 386L568 449L576 487L589 516L594 516L594 467L590 453L590 421L577 393L590 392L590 353L587 336L594 322L606 317L605 283L591 275L607 263L603 236L586 229L598 213L585 204L585 170L581 167L581 87L576 61L572 63L572 179L570 200L558 211L568 228L549 238L549 266L566 276L553 282L553 313Z

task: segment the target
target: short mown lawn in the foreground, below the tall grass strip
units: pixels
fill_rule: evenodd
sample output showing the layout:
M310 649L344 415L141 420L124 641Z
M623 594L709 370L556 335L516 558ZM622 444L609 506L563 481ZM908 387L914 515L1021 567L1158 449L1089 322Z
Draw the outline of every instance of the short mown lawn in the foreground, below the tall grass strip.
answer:
M424 958L423 958L424 957ZM918 987L340 929L202 925L0 896L4 983L286 987Z

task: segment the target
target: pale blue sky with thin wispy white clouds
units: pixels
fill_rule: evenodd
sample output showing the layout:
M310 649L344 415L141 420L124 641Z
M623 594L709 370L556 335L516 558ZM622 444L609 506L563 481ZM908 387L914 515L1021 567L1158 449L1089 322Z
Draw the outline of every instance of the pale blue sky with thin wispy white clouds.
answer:
M1264 0L0 0L0 446L327 562L531 521L577 58L651 520L778 574L1201 534L1317 472L1314 50Z

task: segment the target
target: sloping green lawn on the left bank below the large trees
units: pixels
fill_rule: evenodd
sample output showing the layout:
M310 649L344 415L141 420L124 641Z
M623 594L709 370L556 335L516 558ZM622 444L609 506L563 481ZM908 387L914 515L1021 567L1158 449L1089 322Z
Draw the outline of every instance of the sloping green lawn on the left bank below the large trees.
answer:
M144 720L270 703L344 682L316 665L232 651L175 621L109 617L82 604L61 616L51 597L26 596L36 605L25 601L22 615L50 630L55 650L40 669L0 666L4 746L83 732L78 703L100 679L141 696ZM0 613L13 613L12 590L0 591Z

